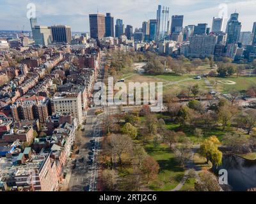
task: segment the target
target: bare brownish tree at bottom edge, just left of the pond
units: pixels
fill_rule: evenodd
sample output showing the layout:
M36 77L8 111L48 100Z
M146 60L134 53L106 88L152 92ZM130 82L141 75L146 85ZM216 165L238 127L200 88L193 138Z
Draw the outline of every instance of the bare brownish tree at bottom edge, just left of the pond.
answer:
M195 183L196 191L220 191L221 188L218 184L216 177L209 171L204 170L200 175L200 182Z

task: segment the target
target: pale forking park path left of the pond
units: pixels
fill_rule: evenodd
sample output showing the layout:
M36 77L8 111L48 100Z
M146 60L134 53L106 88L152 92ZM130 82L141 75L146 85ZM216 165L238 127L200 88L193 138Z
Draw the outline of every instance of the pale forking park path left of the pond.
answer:
M184 177L182 178L182 180L180 180L180 183L174 189L172 189L171 191L180 191L180 189L182 189L182 187L184 186L186 180L188 179L189 170L192 170L192 169L195 170L196 182L198 182L200 180L200 177L199 177L198 173L202 169L199 168L198 166L196 166L196 164L194 163L194 156L195 156L196 151L199 148L200 148L200 145L193 145L193 148L192 148L192 151L191 151L191 156L189 158L188 163L185 166L186 171L184 173Z

